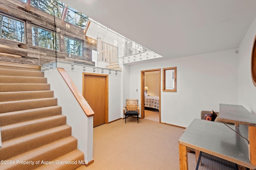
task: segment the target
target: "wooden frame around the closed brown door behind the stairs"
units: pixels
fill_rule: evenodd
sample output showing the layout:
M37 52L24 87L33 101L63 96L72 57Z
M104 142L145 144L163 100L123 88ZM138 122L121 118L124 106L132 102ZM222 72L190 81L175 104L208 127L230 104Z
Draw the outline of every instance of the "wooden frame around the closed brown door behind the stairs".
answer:
M84 94L84 77L88 76L102 76L105 77L105 102L106 102L106 108L105 108L105 124L108 124L108 74L97 74L97 73L88 73L83 72L82 73L82 79L83 79L83 90L82 94Z

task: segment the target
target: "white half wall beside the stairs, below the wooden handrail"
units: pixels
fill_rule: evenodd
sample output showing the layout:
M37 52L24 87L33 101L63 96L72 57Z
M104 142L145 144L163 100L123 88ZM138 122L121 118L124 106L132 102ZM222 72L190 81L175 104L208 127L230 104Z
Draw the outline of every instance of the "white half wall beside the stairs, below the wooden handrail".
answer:
M93 159L93 117L86 117L57 69L47 70L44 75L51 90L54 90L54 97L58 98L62 114L67 117L67 124L72 127L72 136L78 139L78 149L84 152L84 160L91 161Z

